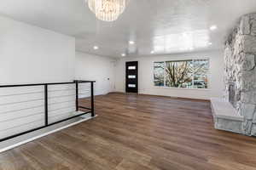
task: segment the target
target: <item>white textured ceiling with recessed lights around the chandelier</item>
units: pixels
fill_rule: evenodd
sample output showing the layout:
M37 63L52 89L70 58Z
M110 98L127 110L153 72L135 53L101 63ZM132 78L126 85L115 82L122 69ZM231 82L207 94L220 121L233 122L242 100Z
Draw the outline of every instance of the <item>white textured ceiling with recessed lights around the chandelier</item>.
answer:
M0 14L76 37L78 51L111 57L222 48L239 17L253 12L256 0L131 0L119 20L103 22L84 0L1 0L0 5ZM210 31L212 25L218 29Z

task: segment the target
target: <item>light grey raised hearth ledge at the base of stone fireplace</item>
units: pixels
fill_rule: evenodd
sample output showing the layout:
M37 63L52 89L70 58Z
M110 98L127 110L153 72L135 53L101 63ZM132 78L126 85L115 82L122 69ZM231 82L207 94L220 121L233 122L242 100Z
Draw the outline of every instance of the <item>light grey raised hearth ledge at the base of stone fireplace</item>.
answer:
M242 133L244 117L240 116L229 102L225 102L224 99L212 98L211 106L216 129Z

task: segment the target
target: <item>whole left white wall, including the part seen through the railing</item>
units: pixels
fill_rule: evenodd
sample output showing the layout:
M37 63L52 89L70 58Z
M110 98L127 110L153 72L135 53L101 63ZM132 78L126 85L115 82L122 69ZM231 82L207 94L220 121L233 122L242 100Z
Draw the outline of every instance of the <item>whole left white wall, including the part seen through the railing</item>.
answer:
M0 16L0 84L70 82L74 65L73 37ZM75 111L74 85L49 91L49 122ZM0 138L43 126L44 87L0 88L0 122Z

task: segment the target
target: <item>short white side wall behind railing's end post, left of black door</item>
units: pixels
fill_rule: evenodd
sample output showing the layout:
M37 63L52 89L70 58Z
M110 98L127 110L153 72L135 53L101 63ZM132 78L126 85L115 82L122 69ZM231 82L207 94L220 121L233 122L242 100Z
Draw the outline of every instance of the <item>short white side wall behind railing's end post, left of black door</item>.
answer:
M95 94L108 94L114 88L114 65L115 59L76 52L76 79L96 81Z

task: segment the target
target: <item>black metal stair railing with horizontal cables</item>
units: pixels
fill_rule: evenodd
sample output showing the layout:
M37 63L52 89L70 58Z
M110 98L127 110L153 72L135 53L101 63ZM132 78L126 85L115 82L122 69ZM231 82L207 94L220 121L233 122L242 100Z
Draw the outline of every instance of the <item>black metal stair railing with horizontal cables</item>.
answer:
M94 83L76 80L1 85L0 143L75 117L94 117ZM80 96L90 99L88 105L79 105Z

